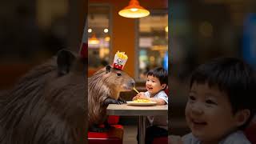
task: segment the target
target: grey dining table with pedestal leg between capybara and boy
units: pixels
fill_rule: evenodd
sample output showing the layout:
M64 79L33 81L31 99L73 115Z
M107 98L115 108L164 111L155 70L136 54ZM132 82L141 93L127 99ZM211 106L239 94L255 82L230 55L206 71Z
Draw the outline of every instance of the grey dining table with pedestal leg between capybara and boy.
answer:
M127 104L110 104L106 108L107 115L138 116L139 144L145 144L146 116L168 114L168 105L163 106L130 106Z

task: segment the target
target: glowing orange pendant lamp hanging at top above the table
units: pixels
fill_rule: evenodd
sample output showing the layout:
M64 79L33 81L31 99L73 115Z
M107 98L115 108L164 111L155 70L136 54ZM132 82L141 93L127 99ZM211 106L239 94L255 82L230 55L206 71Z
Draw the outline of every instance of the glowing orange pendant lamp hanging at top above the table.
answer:
M139 6L138 0L130 0L129 6L120 10L118 14L126 18L142 18L150 15L150 11Z

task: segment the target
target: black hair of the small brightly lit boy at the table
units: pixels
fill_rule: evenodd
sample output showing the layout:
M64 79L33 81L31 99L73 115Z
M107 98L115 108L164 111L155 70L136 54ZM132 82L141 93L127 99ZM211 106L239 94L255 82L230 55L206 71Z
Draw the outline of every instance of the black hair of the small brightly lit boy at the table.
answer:
M149 76L149 75L150 76L152 75L152 76L158 78L159 81L160 81L160 84L161 85L166 84L166 87L167 87L167 85L168 85L168 72L164 68L162 68L162 67L154 68L153 70L150 70L147 73L146 76ZM163 90L165 90L166 87Z

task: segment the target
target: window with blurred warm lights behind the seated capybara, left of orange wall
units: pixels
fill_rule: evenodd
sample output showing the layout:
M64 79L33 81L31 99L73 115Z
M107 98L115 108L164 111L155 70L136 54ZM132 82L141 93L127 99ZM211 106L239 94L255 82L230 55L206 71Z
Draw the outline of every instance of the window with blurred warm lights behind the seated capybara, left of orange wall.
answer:
M89 5L88 65L90 70L109 63L110 31L110 6Z

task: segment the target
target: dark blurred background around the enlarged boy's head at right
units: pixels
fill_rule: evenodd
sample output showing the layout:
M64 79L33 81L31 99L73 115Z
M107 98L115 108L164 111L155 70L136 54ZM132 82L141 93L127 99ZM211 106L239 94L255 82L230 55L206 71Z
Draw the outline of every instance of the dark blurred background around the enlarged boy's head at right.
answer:
M238 57L256 68L256 1L172 0L170 11L170 134L187 134L186 82L212 58Z

